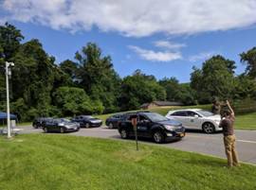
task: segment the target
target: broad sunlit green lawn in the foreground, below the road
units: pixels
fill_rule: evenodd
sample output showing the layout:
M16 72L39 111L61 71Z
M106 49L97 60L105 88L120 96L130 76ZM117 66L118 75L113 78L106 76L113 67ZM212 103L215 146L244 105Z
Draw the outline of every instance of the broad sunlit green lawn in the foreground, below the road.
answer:
M166 147L58 134L0 137L1 190L255 190L256 166Z

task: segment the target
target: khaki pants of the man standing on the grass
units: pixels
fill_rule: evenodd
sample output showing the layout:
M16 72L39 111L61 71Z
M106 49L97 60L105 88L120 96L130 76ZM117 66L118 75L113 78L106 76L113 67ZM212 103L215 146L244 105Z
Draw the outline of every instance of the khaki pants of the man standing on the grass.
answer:
M224 145L228 158L228 166L238 166L238 156L235 150L235 135L224 136Z

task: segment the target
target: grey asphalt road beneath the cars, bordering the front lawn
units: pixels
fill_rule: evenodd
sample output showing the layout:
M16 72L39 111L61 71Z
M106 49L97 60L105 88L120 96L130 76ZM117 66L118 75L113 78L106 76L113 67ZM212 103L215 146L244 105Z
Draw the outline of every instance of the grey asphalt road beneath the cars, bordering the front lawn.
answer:
M23 127L22 129L23 130L21 130L20 133L43 133L42 129L33 129L32 127ZM65 134L122 140L120 139L118 130L110 130L106 127L81 129L77 132L69 132ZM236 147L240 161L249 164L256 164L256 130L235 130L235 135ZM140 139L139 142L155 144L151 140L145 139ZM201 131L187 131L186 136L181 141L161 144L157 146L172 147L175 149L226 158L223 145L223 135L221 132L205 134Z

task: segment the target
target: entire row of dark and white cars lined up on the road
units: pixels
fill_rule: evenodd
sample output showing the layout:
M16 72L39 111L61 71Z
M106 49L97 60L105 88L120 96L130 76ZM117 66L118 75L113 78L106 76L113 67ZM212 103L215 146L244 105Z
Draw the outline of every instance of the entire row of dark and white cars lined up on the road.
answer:
M222 130L221 116L201 109L170 111L166 116L156 112L123 112L108 117L105 121L109 129L118 129L123 139L135 136L132 118L137 119L137 136L152 138L155 143L180 140L185 130L203 130L213 133ZM33 122L34 128L49 131L78 131L81 128L101 127L102 120L91 115L79 115L71 120L41 117Z

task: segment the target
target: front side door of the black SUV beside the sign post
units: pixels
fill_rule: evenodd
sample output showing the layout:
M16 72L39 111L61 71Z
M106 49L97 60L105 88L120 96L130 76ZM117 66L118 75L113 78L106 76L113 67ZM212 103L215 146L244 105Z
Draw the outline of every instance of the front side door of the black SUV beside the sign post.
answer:
M145 115L138 115L137 135L143 137L150 136L151 121Z

